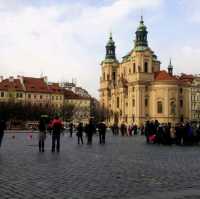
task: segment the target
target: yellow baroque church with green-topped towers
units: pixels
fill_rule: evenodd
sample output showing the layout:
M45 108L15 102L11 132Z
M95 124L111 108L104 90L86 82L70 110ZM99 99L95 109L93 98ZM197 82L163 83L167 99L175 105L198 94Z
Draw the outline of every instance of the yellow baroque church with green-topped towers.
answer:
M171 61L161 70L149 47L141 17L133 49L119 62L112 35L101 63L100 104L108 124L143 125L147 120L178 123L190 120L190 84L173 74Z

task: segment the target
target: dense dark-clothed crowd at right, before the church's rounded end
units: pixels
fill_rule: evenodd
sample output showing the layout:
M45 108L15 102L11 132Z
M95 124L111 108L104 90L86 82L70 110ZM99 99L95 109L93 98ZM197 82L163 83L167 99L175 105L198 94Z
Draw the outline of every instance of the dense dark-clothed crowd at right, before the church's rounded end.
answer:
M147 121L144 128L147 143L193 145L200 142L200 126L178 123L175 126L160 124L157 120Z

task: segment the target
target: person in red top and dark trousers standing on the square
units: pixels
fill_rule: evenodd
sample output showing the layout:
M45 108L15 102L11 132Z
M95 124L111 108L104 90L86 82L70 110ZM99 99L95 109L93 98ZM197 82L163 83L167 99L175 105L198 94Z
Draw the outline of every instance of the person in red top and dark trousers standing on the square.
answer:
M62 131L62 121L56 116L52 122L52 152L55 152L55 148L57 152L60 152L60 134Z

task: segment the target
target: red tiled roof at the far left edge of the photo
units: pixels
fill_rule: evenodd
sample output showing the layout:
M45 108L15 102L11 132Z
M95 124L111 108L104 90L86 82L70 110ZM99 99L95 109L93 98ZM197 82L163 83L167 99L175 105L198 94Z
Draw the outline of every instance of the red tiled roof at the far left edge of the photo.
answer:
M15 91L23 91L23 86L19 79L4 79L2 82L0 82L0 90L3 91L9 91L9 90L15 90Z

